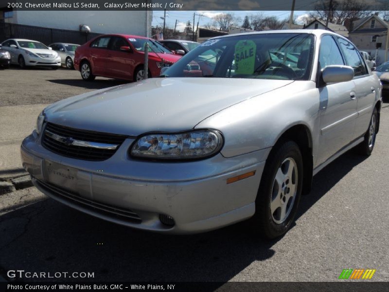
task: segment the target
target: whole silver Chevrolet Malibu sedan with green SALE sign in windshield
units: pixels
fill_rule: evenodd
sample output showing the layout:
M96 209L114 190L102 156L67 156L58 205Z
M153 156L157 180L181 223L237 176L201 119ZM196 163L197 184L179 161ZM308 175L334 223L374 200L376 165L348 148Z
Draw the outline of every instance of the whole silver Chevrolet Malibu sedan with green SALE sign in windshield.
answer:
M194 233L252 218L274 238L313 175L352 147L371 153L381 103L337 34L217 37L160 78L47 107L22 161L40 191L101 219Z

